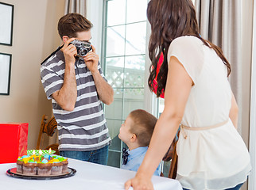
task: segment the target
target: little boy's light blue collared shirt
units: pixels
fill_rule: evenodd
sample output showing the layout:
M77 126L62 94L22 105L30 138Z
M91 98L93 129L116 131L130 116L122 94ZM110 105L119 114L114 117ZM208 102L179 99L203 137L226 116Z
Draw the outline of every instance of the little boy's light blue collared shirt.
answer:
M129 156L126 165L121 165L121 169L128 169L137 172L138 168L142 164L145 153L148 150L148 146L138 147L134 150L128 150ZM153 173L155 176L160 176L161 164L158 165L156 171Z

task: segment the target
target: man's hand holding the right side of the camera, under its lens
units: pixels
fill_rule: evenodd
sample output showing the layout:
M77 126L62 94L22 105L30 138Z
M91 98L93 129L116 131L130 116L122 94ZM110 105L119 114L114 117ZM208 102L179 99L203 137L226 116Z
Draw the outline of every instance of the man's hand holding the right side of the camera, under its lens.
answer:
M95 47L91 45L92 51L87 53L83 57L83 60L87 68L91 71L91 74L95 74L98 71L99 55L95 53Z

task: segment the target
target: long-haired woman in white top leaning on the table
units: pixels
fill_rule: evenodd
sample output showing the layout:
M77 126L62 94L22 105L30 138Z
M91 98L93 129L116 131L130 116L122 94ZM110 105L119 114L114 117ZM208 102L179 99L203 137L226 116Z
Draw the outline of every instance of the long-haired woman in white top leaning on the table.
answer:
M250 173L250 156L236 130L238 107L227 80L231 65L221 49L201 38L191 0L151 0L149 58L153 89L165 109L136 176L125 187L153 189L151 177L181 124L176 179L184 189L239 189Z

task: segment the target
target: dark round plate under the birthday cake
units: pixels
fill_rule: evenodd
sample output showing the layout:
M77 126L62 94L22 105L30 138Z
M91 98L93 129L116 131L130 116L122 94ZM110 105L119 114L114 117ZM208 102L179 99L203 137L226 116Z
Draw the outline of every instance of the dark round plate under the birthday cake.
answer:
M24 175L22 173L17 173L17 168L8 169L6 171L7 176L21 178L26 180L56 180L66 177L72 177L76 173L76 169L68 168L67 173L61 173L60 175L50 175L50 176L38 176L38 175Z

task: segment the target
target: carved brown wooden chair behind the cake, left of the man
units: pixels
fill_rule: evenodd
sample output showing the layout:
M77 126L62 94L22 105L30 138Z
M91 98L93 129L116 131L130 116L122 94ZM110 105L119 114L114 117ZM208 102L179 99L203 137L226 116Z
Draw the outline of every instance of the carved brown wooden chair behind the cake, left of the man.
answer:
M55 117L53 116L50 120L48 120L48 122L47 120L48 120L48 116L45 116L45 115L42 116L41 128L40 128L38 139L37 139L37 150L40 148L41 142L44 139L43 133L51 137L56 132L57 123L56 123ZM60 155L58 146L59 144L51 144L44 149L48 150L49 148L51 148L52 150L56 151L55 154Z

